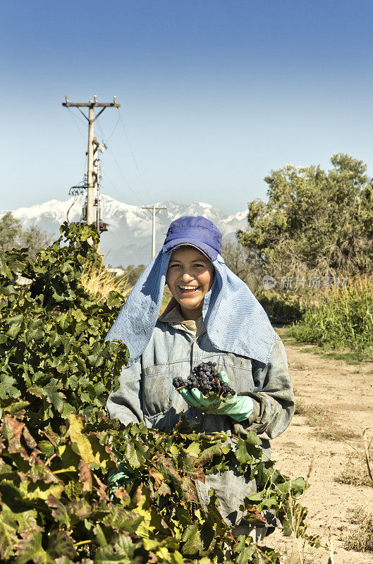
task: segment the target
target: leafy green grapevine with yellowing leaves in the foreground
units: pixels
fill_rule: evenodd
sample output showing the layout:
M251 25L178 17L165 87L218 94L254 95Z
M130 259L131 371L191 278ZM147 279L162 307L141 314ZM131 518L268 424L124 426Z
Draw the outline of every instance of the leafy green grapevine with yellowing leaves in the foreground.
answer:
M295 534L317 542L297 501L304 480L262 460L254 433L231 438L232 448L188 422L162 433L107 418L128 350L104 336L123 296L97 303L82 286L97 232L67 223L61 232L33 262L16 250L0 259L0 562L219 564L229 546L235 562L279 563L251 537L233 538L213 491L198 503L195 482L233 467L257 479L241 507L249 522L270 508L289 535L295 515ZM130 479L113 503L105 482L118 460Z

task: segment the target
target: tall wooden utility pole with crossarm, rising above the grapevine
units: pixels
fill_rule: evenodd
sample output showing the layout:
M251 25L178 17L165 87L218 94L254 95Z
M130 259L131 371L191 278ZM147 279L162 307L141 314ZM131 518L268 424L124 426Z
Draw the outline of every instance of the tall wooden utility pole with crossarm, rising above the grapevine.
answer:
M114 96L113 102L97 102L97 96L94 96L93 100L89 102L69 102L67 96L65 97L66 102L63 102L63 106L66 108L78 108L80 114L82 114L88 122L88 164L87 164L87 224L92 225L97 221L97 218L94 217L94 130L93 124L97 120L99 116L101 116L102 112L106 110L106 108L120 108L121 104L116 103L116 97ZM84 111L80 108L88 108L88 117L85 115ZM102 108L99 113L94 116L94 108ZM97 198L98 202L98 198Z

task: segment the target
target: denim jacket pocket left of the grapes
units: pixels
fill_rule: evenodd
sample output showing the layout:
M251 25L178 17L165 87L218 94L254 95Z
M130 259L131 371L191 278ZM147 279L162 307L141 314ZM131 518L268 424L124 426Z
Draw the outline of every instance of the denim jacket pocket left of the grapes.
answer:
M142 405L145 417L157 417L169 410L172 397L172 372L170 364L153 364L144 369L142 379Z

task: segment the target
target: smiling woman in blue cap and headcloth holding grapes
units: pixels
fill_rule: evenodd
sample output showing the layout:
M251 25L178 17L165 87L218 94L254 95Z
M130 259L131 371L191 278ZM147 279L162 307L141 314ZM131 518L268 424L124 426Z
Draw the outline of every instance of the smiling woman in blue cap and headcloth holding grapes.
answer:
M142 422L166 432L183 414L206 433L232 436L233 449L234 436L255 431L269 456L269 439L288 427L294 412L286 353L264 309L226 267L220 251L221 233L212 221L185 216L171 223L162 250L107 336L130 351L107 407L124 424ZM159 317L165 283L172 298ZM207 387L215 374L236 393L212 399L194 387L173 388L197 372L206 376ZM112 476L111 483L120 483L120 477ZM243 499L256 492L250 472L209 474L196 487L202 505L209 503L209 490L216 491L221 515L237 526L233 534L258 539L271 530L268 519L259 532L240 518Z

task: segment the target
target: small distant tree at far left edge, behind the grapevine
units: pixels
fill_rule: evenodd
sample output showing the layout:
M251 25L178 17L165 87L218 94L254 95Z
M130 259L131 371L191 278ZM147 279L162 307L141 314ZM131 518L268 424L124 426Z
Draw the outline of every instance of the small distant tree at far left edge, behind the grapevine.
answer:
M36 226L31 226L23 231L19 219L11 212L6 213L0 219L0 251L27 248L27 256L35 259L36 253L50 245L49 235Z

